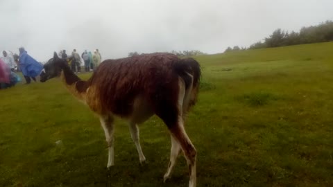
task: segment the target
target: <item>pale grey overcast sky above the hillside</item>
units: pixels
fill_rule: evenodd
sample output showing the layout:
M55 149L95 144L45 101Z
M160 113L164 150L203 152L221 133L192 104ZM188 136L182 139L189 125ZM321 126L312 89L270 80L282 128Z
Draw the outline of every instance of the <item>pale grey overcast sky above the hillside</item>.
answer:
M129 52L249 46L276 28L333 20L332 0L0 0L0 51L24 46L38 61L53 51ZM1 54L2 55L2 54Z

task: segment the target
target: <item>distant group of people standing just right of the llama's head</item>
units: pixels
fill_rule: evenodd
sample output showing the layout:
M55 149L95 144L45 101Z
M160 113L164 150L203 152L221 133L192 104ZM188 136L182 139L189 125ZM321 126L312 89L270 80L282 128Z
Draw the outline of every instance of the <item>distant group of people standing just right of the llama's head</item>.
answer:
M69 57L66 50L60 51L58 55L63 59ZM94 71L96 67L101 64L101 53L99 53L99 49L95 49L94 54L92 54L91 51L87 52L87 50L85 50L81 55L79 55L74 48L71 52L71 57L73 57L73 59L71 60L69 66L71 66L71 71L74 73L81 72L81 58L85 64L85 72Z

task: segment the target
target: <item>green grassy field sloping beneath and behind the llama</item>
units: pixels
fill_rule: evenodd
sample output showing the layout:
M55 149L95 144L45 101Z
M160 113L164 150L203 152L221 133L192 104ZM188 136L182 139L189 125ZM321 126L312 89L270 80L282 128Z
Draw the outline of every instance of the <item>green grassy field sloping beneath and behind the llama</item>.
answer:
M203 80L186 129L198 186L333 186L333 43L196 59ZM183 157L162 182L171 143L159 118L140 127L143 167L117 119L106 170L99 119L60 80L18 84L0 100L0 186L188 185Z

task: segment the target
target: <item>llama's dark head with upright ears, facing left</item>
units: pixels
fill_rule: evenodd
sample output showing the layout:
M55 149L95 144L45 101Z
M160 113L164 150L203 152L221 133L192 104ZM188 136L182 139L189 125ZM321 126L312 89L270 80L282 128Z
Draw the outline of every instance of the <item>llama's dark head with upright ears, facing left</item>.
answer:
M60 76L62 68L66 64L67 60L59 58L57 53L54 52L53 58L44 64L44 69L42 73L40 73L40 82L45 82L46 80Z

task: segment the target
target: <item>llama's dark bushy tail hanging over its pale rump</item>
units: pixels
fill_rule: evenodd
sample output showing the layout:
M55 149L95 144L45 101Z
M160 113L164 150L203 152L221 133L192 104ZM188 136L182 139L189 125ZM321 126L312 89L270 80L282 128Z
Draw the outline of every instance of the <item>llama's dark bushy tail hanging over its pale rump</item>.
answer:
M191 106L196 104L200 87L201 68L200 64L193 58L185 58L174 64L173 69L185 81L186 95L185 108L186 113Z

